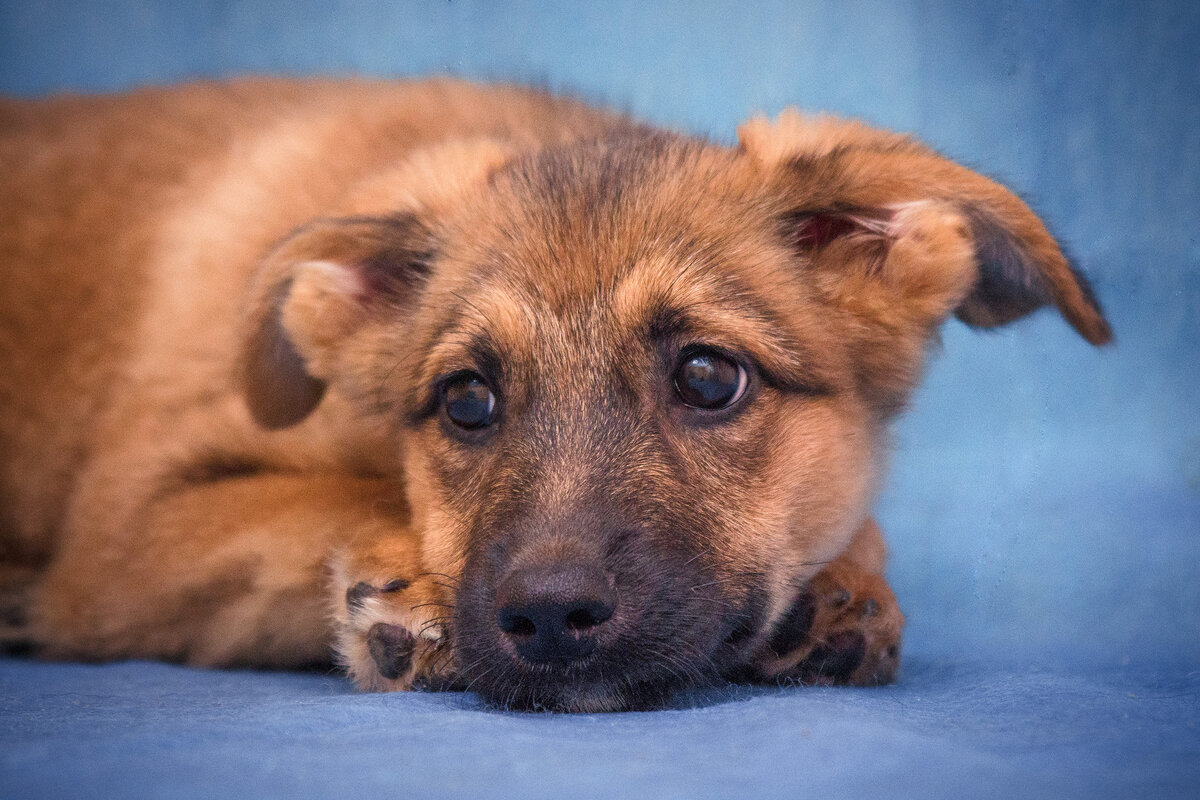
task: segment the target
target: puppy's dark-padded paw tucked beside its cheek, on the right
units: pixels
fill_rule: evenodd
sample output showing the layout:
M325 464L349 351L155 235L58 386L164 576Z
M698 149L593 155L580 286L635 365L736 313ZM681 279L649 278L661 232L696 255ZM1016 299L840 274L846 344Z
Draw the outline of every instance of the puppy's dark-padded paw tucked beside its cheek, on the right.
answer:
M818 572L776 622L755 657L758 681L888 684L900 663L904 614L883 578L884 547L868 521L850 547Z

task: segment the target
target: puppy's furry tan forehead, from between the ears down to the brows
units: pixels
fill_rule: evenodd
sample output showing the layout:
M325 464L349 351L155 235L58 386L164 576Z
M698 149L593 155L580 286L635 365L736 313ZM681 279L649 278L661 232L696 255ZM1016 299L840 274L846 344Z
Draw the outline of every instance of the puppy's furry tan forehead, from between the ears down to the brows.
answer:
M425 377L484 351L601 369L679 332L828 383L836 348L803 313L808 288L740 166L662 136L510 164L448 234Z

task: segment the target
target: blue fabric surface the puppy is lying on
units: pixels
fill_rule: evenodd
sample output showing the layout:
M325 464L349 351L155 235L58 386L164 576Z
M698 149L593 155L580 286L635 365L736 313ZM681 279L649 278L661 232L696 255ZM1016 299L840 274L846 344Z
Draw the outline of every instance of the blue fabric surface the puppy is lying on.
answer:
M1195 798L1200 672L910 658L899 685L506 714L337 676L0 661L6 798Z

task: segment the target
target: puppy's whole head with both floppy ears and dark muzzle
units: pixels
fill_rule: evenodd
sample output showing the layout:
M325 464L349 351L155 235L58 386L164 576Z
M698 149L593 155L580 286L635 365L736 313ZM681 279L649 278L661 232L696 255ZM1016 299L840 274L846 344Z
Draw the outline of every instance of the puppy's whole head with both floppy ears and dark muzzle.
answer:
M1109 338L1016 197L857 124L458 143L361 196L262 271L251 408L383 420L463 678L514 705L640 705L760 646L866 518L948 315Z

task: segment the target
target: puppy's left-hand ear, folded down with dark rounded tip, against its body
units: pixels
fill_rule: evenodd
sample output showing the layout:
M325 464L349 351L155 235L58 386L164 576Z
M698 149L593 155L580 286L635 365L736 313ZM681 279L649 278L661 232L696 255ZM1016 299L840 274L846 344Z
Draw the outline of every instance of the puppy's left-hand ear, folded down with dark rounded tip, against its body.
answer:
M268 429L312 413L343 348L372 314L415 301L433 237L412 213L317 219L266 258L250 288L240 361L246 403Z

